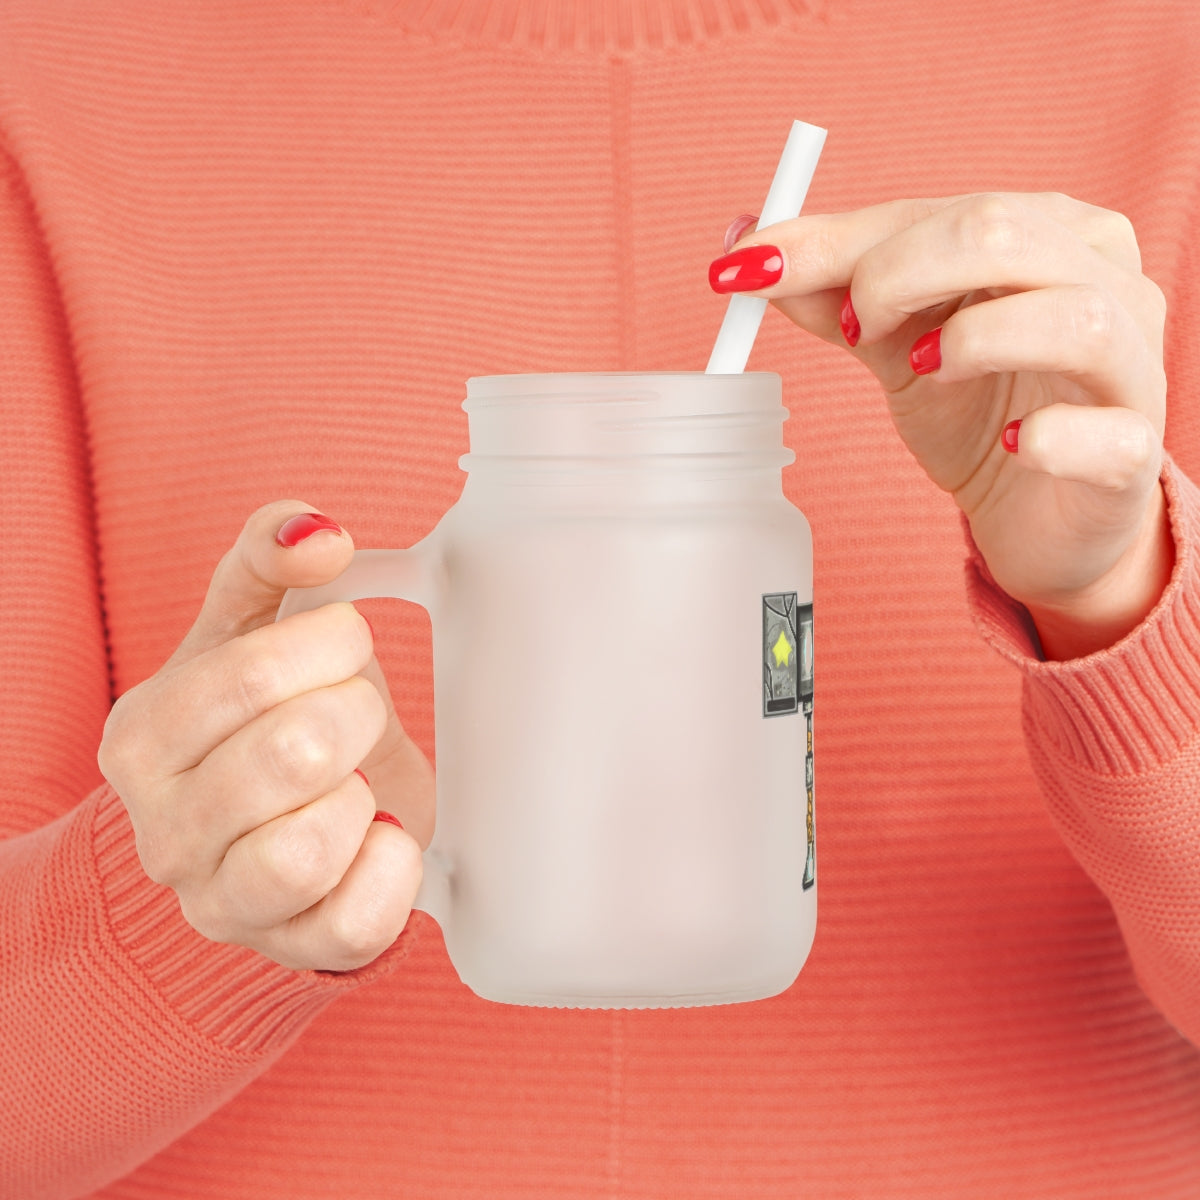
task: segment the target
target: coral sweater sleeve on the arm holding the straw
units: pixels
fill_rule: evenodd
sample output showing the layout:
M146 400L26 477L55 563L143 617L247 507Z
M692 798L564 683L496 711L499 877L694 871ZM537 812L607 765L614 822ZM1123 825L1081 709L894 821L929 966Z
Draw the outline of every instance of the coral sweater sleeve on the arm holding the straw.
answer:
M1175 570L1116 646L1042 661L1028 613L970 532L967 592L984 637L1024 674L1025 740L1051 818L1109 898L1142 989L1200 1045L1200 491L1170 457L1163 486Z

